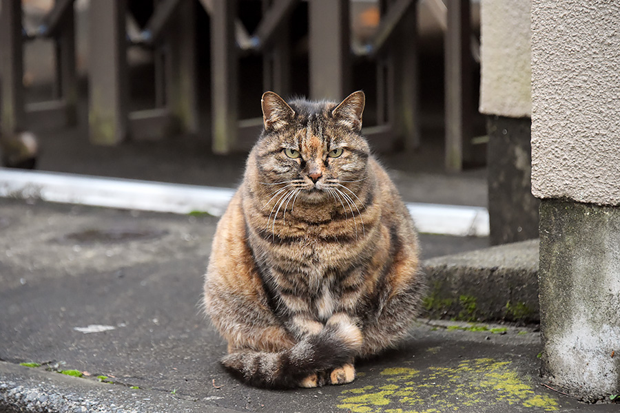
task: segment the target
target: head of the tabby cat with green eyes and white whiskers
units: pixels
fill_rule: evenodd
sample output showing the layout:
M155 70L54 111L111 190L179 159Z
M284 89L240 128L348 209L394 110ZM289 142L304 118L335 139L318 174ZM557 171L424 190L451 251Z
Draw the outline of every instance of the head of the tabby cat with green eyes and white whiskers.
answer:
M364 92L342 103L262 95L265 129L254 148L258 182L289 185L305 202L333 199L342 186L360 187L367 178L370 149L362 137ZM351 197L350 193L347 193Z

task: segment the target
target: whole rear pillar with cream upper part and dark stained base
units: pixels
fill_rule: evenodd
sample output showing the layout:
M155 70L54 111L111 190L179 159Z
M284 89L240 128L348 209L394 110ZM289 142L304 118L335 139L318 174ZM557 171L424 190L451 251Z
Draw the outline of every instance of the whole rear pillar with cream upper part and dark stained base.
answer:
M530 187L531 0L481 3L480 112L488 115L488 213L493 245L538 237Z

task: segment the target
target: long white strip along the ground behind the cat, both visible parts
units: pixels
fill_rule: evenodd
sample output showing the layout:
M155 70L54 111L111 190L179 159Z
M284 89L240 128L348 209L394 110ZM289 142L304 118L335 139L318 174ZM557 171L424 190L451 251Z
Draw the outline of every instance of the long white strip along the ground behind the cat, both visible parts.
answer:
M0 197L4 198L220 216L233 194L234 189L228 188L0 168ZM422 233L488 235L486 208L413 202L407 207Z

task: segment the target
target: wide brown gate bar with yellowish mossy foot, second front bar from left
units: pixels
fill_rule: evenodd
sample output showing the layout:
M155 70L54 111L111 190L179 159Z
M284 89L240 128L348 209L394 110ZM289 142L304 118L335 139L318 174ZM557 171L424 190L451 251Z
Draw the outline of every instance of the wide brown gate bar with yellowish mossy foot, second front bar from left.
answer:
M88 124L99 145L117 145L128 135L126 10L126 0L90 1Z

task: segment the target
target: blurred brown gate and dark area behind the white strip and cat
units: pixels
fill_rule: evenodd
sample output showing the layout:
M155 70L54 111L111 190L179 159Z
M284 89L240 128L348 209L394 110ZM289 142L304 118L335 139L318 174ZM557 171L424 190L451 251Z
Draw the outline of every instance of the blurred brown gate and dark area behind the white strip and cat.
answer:
M5 164L32 131L43 171L234 187L262 92L362 89L364 135L405 200L487 204L477 0L0 5Z

